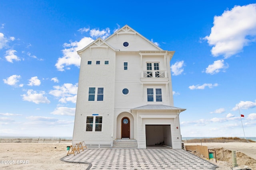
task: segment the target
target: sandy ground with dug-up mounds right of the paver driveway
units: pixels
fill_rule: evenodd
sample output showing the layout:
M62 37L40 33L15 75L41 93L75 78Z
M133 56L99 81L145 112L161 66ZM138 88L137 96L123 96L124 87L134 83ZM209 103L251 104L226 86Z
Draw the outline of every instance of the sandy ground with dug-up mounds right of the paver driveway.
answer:
M184 143L184 145L201 145L201 143ZM229 170L230 167L232 167L231 150L236 150L236 159L238 166L246 165L252 170L256 170L256 143L202 143L202 146L207 146L208 149L216 150L217 163L215 159L210 160L210 162L219 166L219 168L217 168L216 170ZM200 156L201 158L204 158L199 153L192 153ZM204 159L208 160L208 158Z

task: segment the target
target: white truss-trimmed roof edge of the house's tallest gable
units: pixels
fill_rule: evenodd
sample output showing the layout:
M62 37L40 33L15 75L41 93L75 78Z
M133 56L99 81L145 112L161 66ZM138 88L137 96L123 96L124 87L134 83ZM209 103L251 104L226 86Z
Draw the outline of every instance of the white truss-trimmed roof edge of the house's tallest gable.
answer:
M152 44L154 47L156 47L159 50L163 50L160 47L158 47L157 45L155 45L152 41L148 40L146 37L144 37L143 35L141 35L140 33L138 33L137 31L135 31L134 29L132 29L130 26L128 25L124 25L122 28L118 29L116 32L114 32L112 35L110 35L109 37L107 37L105 39L105 41L108 41L108 39L110 39L111 37L113 37L116 34L122 34L122 33L129 33L129 34L138 34L140 37L142 37L145 41L148 41L148 43Z

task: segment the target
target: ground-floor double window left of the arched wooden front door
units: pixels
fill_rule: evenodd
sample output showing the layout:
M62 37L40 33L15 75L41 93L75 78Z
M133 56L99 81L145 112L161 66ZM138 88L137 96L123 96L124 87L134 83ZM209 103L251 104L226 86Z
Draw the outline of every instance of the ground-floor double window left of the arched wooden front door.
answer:
M86 131L101 132L101 130L102 130L102 116L86 117Z

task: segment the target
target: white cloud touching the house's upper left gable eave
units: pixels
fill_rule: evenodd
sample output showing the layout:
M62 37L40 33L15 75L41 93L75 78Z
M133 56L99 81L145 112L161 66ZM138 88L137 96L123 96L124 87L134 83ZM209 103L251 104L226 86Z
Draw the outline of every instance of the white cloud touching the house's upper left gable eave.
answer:
M57 63L55 64L56 68L59 71L64 71L64 68L70 69L68 66L75 65L77 67L80 66L80 57L76 51L83 49L88 44L94 41L90 37L83 37L79 42L75 41L70 43L64 43L64 48L62 50L63 56L58 58ZM68 47L68 48L67 48Z

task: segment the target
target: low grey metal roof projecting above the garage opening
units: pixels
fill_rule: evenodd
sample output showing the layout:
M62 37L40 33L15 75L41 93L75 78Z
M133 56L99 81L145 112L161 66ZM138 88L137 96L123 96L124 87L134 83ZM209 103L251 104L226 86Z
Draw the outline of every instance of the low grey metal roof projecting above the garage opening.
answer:
M131 109L132 110L179 110L180 112L185 111L186 109L182 109L179 107L174 107L174 106L166 106L166 105L145 105L145 106L140 106Z

